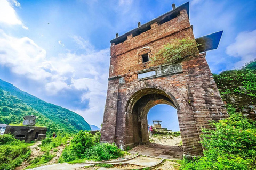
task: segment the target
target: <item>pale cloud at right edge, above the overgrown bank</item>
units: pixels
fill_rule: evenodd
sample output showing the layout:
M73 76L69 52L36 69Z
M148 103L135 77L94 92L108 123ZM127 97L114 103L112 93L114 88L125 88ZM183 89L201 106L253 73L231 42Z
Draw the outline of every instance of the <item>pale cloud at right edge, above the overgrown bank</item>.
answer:
M226 53L241 58L239 62L235 63L236 67L241 67L244 63L254 60L256 58L256 30L239 33L235 43L227 47Z

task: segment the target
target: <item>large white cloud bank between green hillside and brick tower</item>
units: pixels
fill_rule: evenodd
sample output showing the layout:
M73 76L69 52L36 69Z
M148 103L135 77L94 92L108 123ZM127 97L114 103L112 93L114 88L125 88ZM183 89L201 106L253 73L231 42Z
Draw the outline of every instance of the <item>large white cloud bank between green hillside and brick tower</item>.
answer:
M107 92L109 49L95 51L88 41L75 37L85 53L67 52L49 57L30 38L15 38L0 30L0 65L41 83L38 89L47 96L80 91L78 103L89 103L87 109L77 109L77 112L90 124L100 125Z

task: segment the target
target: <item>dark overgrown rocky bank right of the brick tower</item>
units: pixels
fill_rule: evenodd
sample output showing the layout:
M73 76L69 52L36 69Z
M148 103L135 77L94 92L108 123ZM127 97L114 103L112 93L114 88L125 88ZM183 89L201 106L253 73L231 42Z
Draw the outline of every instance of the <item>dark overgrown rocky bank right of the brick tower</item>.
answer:
M214 74L213 78L225 103L256 120L256 60L242 69Z

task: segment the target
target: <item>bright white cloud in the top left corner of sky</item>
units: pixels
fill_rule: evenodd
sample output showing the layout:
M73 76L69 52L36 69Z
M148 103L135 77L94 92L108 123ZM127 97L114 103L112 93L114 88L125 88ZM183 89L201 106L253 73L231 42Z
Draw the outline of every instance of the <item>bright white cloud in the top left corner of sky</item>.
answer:
M20 7L18 1L12 2L15 6ZM23 29L28 29L18 18L12 4L7 0L0 1L0 23L1 22L7 25L21 25Z

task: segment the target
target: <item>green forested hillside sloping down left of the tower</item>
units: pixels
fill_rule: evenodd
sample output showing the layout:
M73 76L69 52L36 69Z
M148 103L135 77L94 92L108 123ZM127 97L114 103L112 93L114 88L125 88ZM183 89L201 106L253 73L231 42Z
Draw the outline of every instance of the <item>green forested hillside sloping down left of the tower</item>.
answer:
M0 113L0 123L4 124L21 123L24 115L36 115L40 117L38 125L47 126L49 132L76 133L79 130L91 130L82 116L46 103L1 79Z

